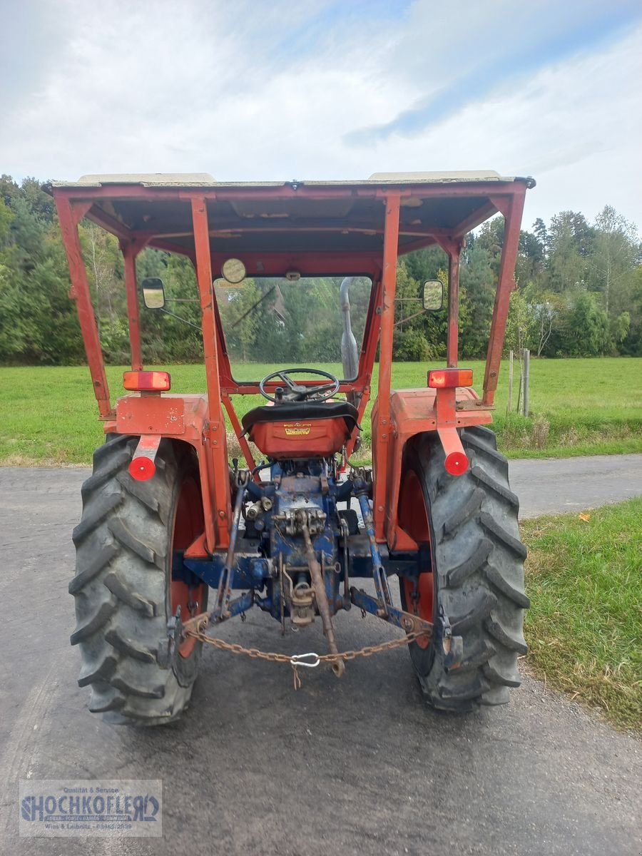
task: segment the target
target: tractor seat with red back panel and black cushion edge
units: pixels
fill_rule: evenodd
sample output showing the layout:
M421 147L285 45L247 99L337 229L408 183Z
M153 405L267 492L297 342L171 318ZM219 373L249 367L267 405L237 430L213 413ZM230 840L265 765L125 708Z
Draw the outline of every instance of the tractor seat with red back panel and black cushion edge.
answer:
M359 428L358 418L349 401L288 401L254 407L241 422L259 450L279 461L335 455Z

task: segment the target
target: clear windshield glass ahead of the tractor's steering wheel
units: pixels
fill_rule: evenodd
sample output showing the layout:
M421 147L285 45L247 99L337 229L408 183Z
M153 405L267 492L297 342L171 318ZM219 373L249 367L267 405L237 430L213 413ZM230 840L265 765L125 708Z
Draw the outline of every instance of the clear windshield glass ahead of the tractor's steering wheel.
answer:
M276 368L310 366L343 376L342 276L254 277L214 282L235 380L260 380ZM350 277L350 321L360 353L372 281ZM354 372L352 372L354 374ZM353 380L354 377L345 377Z

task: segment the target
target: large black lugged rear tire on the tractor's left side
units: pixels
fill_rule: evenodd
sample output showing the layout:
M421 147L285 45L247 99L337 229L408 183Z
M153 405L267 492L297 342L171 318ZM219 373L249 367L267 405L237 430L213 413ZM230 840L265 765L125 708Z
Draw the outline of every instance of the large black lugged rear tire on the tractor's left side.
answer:
M171 580L172 551L202 532L203 510L193 449L163 439L155 475L140 482L128 472L137 442L111 435L82 486L71 644L82 659L78 683L92 689L89 710L109 722L157 725L181 715L199 667L201 645L191 640L167 668L157 655L176 603L183 620L188 602L205 610L207 586L187 596Z

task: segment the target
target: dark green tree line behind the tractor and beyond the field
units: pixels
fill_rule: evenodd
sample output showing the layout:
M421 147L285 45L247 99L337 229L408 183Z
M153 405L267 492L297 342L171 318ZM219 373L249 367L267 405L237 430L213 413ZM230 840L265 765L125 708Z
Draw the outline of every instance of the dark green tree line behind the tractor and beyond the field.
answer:
M503 218L467 235L461 259L460 354L484 357L503 241ZM90 221L80 223L105 359L127 363L129 355L122 257L116 238ZM593 223L562 211L546 224L538 219L520 233L511 295L507 349L530 348L544 357L642 355L642 247L633 223L606 205ZM448 289L448 264L438 247L400 259L395 304L395 359L439 359L445 354L446 313L420 312L419 288L441 279ZM191 263L146 249L137 262L139 280L161 276L168 297L193 298L172 307L199 323ZM273 281L247 281L242 289L220 289L223 325L236 360L273 362L341 359L338 280L319 280L300 300L296 288ZM18 184L0 177L0 363L70 365L85 354L55 205L42 182ZM250 308L261 297L260 312ZM359 341L367 306L366 282L351 288L353 329ZM178 308L176 308L178 307ZM242 317L241 317L242 316ZM288 323L283 322L287 318ZM286 332L284 332L286 330ZM141 312L144 360L150 364L202 359L193 330L158 312Z

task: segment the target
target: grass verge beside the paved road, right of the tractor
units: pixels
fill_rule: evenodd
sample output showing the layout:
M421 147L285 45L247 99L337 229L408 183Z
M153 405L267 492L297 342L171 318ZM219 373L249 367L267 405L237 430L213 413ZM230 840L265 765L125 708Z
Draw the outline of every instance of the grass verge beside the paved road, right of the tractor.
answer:
M526 663L550 687L642 730L642 498L522 523Z

